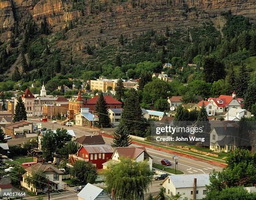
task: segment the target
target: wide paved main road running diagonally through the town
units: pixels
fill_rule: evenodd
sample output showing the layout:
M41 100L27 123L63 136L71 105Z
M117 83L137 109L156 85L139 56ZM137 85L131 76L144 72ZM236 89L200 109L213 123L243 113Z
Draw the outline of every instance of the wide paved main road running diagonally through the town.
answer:
M35 125L36 123L38 123L38 120L31 120L29 119L29 121L33 122ZM65 127L65 126L61 126L59 123L51 123L51 122L42 122L42 126L46 127L46 128L67 128L69 129L69 127ZM94 135L93 134L93 130L89 130L89 129L84 129L78 126L72 126L70 127L70 129L74 130L74 133L76 134L76 137L81 137L83 135ZM112 143L112 138L105 138L103 137L105 142L110 144ZM9 140L11 141L11 140ZM8 141L8 142L9 142ZM139 146L139 145L133 145L133 146ZM172 157L174 156L174 154L171 153L165 153L162 151L158 151L158 150L154 150L154 149L150 149L150 148L146 148L147 152L153 157L153 162L154 163L161 163L161 159L168 159L171 161L171 163L173 164L171 166L171 168L175 168L175 162L172 160ZM178 169L184 171L184 173L186 174L198 174L198 173L210 173L212 172L213 169L217 170L217 171L221 171L223 168L215 166L215 165L211 165L205 162L201 162L198 160L193 160L190 158L185 158L185 157L179 157L178 160Z

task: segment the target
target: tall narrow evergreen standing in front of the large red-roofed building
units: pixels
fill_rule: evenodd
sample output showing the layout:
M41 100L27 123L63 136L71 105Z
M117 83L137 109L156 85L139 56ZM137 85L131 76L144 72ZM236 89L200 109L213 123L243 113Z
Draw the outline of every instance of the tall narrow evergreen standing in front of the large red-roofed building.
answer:
M108 113L108 106L102 92L100 92L97 103L95 105L95 112L99 113L99 127L109 127L110 117Z

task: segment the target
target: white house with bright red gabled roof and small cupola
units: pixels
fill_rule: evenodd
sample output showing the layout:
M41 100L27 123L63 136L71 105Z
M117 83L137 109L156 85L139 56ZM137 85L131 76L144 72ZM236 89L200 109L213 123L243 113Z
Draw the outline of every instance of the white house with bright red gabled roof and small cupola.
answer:
M242 108L243 107L243 99L236 98L236 92L232 93L232 96L229 95L220 95L218 98L208 98L215 106L216 114L223 114L227 112L230 108Z

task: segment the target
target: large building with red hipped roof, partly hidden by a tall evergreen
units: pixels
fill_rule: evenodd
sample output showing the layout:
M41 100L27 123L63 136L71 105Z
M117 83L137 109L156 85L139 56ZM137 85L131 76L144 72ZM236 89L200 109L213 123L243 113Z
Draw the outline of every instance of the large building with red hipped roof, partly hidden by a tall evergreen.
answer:
M97 103L99 96L95 96L91 99L84 100L83 107L89 107L89 110L95 110L95 105ZM108 104L108 108L122 108L122 103L112 96L104 95L104 99Z

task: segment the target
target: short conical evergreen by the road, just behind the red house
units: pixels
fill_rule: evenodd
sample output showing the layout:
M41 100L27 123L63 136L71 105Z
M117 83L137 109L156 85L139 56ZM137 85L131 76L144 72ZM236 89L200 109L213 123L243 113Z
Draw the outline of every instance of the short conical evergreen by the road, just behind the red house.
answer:
M118 126L113 136L113 144L111 144L112 147L128 147L131 145L129 132L123 125L120 124Z

